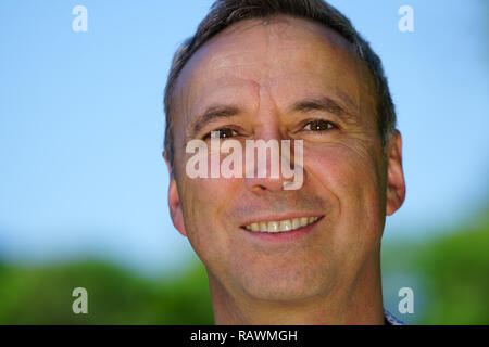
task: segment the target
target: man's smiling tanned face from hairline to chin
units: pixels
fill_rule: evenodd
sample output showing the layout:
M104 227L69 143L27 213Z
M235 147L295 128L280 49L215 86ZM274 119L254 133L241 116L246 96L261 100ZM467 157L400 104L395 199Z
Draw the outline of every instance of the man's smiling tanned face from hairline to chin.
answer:
M348 287L378 260L386 207L399 206L386 193L373 90L346 40L299 18L240 22L192 56L176 86L170 206L211 281L235 295L305 299ZM216 107L233 112L199 120ZM190 179L187 142L223 128L243 147L251 139L291 140L292 147L302 140L302 188L244 175ZM301 217L319 218L293 232L243 228Z

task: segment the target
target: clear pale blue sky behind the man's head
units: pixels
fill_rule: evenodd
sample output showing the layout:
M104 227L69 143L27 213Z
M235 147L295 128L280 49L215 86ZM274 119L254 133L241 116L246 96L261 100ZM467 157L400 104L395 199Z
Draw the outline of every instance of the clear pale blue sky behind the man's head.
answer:
M484 1L330 1L384 62L408 195L386 241L450 231L487 203ZM74 33L72 9L88 10ZM141 270L191 256L166 206L162 92L211 1L0 2L0 258L97 255ZM398 9L414 10L400 33Z

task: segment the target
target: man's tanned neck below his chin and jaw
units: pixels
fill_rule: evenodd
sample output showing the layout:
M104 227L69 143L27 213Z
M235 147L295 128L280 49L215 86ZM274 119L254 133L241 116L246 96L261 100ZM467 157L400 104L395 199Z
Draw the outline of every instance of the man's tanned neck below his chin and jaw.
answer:
M215 323L233 325L384 324L379 255L328 293L293 301L233 295L208 270Z

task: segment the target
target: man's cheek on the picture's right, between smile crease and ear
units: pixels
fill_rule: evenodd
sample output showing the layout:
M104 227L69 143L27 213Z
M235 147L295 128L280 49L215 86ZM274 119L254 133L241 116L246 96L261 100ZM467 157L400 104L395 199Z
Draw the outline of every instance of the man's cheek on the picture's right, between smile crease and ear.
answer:
M336 202L337 242L351 244L365 240L359 233L376 236L384 228L378 163L366 153L343 144L304 149L308 174Z

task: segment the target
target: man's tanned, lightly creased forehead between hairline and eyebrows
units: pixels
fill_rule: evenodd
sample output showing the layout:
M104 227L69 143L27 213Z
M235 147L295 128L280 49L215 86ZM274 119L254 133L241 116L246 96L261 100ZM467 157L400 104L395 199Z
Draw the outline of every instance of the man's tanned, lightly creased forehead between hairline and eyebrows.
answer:
M321 90L360 107L368 79L352 46L321 24L285 15L246 20L217 34L186 64L176 83L174 121L188 124L206 104L223 100L251 102L260 89L278 104Z

